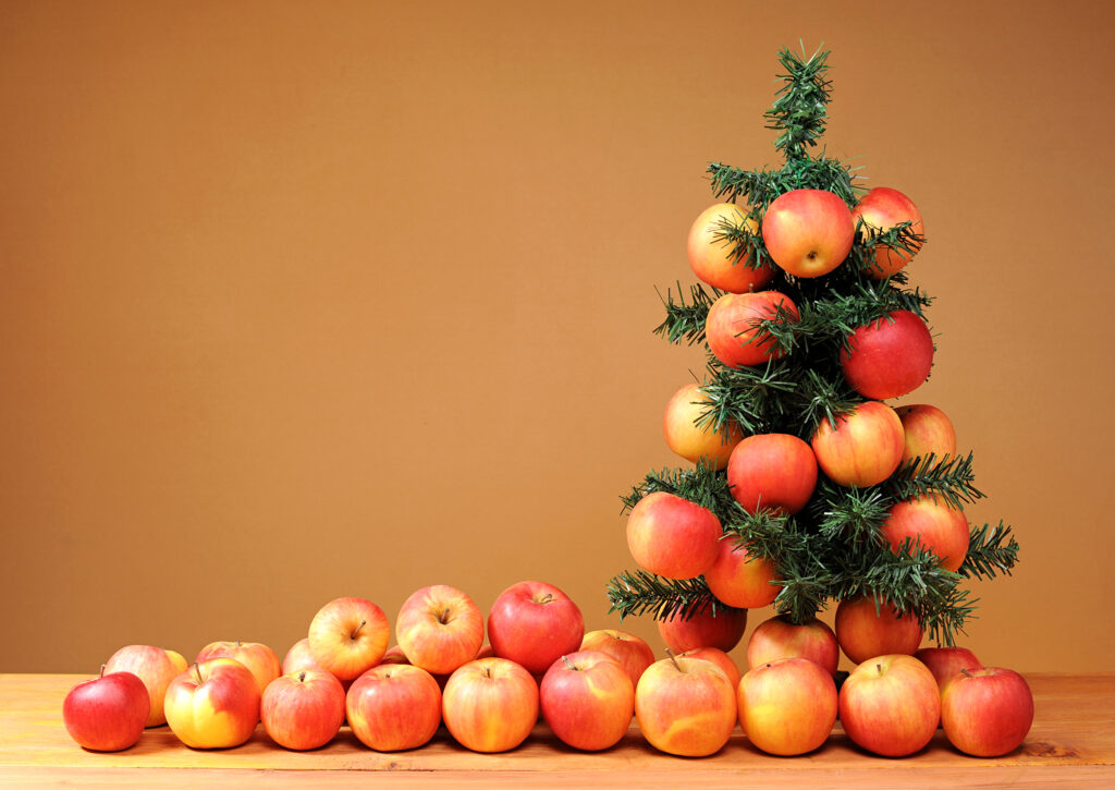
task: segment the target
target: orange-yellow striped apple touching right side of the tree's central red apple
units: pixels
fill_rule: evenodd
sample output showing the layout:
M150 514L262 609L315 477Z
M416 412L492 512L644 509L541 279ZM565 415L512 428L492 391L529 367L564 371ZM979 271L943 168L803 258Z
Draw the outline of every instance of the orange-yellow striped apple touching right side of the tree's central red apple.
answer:
M824 420L813 433L813 452L822 471L838 485L865 488L883 482L902 462L902 421L894 410L866 401L836 420Z

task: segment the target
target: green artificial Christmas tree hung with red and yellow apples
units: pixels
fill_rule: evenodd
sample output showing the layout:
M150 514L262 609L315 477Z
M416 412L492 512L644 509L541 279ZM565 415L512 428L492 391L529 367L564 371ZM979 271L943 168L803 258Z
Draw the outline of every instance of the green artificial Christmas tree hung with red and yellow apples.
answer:
M608 595L621 617L650 614L668 630L692 622L690 633L717 633L721 646L721 632L743 633L740 603L770 597L784 625L803 628L840 605L846 653L910 642L911 630L909 652L922 633L951 645L975 604L961 582L1009 574L1018 545L1002 522L963 517L983 494L944 413L882 403L913 392L933 364L931 300L905 268L925 242L923 221L901 192L862 189L847 164L816 151L827 56L779 54L785 85L766 118L780 167L708 166L723 202L688 239L702 282L668 291L656 329L709 350L704 382L682 387L666 415L668 444L694 463L653 471L623 498L643 522L628 530L641 536L634 553L689 575L626 571ZM642 504L663 494L692 505ZM736 549L727 557L692 537L694 522L716 521ZM678 560L712 559L671 562L661 549L672 540L687 555ZM763 586L770 596L756 594ZM864 610L872 622L860 627Z

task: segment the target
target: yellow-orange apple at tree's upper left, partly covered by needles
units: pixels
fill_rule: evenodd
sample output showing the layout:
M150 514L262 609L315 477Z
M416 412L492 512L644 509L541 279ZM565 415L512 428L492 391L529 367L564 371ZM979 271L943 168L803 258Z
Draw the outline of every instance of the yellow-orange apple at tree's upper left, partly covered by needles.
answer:
M750 256L737 261L735 245L723 240L725 223L746 227L753 235L759 232L746 209L733 203L710 205L689 229L689 266L697 277L721 291L744 293L762 288L774 278L774 269L766 264L754 268Z

